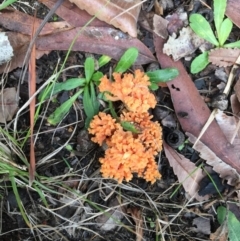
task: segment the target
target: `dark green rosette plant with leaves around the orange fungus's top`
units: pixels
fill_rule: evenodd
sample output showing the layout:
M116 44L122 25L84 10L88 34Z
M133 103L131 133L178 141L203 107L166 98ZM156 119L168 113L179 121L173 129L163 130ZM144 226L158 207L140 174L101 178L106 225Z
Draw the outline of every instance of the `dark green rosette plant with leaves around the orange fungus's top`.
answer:
M136 48L129 48L123 56L120 58L114 72L124 73L127 71L136 61L138 57L138 50ZM111 59L108 56L102 56L98 60L98 69L106 65ZM84 78L72 78L68 79L66 82L62 83L52 83L50 86L45 88L39 95L40 102L46 100L52 95L55 95L63 90L73 90L78 88L79 90L61 106L59 106L49 117L48 122L52 125L58 124L64 116L67 115L70 108L76 101L76 99L82 95L83 98L83 108L87 116L85 121L85 127L87 128L91 119L94 115L99 112L99 98L101 95L97 95L95 87L99 85L100 79L103 77L103 73L95 70L94 59L88 57L84 63ZM172 80L178 75L178 70L174 68L167 68L162 70L156 70L146 73L150 78L151 90L156 90L158 88L159 82L166 82Z

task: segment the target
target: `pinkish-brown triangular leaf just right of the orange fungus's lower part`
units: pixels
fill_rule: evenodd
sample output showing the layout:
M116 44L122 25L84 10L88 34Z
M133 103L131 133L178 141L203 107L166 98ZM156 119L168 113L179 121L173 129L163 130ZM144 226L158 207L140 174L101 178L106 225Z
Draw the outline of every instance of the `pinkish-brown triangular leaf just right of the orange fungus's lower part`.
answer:
M185 191L191 197L196 198L198 201L207 200L207 195L201 197L197 194L199 189L199 182L204 177L201 168L197 168L194 163L176 152L166 143L164 143L163 146L165 155L171 167L173 168L175 175L178 177L179 182L183 185Z

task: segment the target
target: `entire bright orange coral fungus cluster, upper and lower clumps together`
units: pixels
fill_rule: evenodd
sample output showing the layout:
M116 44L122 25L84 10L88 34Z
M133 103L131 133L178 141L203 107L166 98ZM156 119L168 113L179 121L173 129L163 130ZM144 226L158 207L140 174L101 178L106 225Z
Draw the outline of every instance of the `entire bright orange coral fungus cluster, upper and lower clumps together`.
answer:
M158 122L151 121L148 109L156 105L155 97L149 92L148 77L136 70L135 74L113 74L111 82L104 76L99 89L108 92L111 101L121 100L126 106L118 120L100 112L90 123L89 133L92 141L108 148L100 158L101 173L105 178L114 178L118 182L130 181L133 173L154 183L161 177L155 162L155 156L162 149L162 129ZM132 123L137 133L126 131L122 122Z

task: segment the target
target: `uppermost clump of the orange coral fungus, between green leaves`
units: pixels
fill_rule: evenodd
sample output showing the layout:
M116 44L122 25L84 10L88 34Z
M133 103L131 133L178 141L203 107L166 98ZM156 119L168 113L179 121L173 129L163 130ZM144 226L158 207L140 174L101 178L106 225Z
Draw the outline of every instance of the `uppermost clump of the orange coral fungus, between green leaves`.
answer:
M99 90L108 91L106 97L111 101L121 100L129 111L147 112L156 105L155 96L150 93L149 77L141 70L135 70L133 74L113 73L114 81L110 81L106 75L101 78Z

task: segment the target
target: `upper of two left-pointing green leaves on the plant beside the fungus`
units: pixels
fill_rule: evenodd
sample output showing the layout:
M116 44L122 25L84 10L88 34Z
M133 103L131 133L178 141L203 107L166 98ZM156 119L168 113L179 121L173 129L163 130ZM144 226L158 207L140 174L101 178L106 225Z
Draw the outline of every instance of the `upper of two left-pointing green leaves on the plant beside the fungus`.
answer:
M59 93L60 91L73 90L77 87L83 87L85 84L86 84L86 79L83 79L83 78L72 78L72 79L68 79L65 82L53 83L52 86L46 87L44 90L41 91L38 99L46 100L50 96L53 96Z

